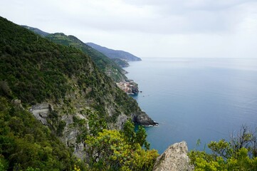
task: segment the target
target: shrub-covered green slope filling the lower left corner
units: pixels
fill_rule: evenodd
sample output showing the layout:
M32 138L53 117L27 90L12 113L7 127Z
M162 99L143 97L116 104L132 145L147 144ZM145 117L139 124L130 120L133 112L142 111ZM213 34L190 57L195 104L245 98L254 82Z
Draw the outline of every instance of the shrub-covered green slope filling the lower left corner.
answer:
M72 151L48 127L0 96L0 170L72 170ZM81 165L80 165L81 167ZM83 167L82 167L83 168Z

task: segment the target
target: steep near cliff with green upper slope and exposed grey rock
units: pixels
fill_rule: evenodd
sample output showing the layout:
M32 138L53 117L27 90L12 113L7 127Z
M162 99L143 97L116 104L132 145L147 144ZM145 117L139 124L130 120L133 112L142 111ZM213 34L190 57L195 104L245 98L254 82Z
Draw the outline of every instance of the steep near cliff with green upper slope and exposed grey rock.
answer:
M156 125L136 100L83 51L61 46L0 17L0 95L18 98L26 110L75 152L90 115L120 129L125 120ZM137 119L134 119L137 118ZM79 155L78 155L79 157Z

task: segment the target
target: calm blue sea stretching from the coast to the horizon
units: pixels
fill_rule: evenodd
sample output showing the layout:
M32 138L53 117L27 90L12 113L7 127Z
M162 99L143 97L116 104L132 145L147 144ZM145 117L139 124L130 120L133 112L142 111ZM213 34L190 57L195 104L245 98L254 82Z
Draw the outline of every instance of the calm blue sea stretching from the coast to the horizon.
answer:
M185 140L229 139L241 125L257 127L257 59L143 58L130 62L128 78L142 93L134 98L159 127L147 128L162 153Z

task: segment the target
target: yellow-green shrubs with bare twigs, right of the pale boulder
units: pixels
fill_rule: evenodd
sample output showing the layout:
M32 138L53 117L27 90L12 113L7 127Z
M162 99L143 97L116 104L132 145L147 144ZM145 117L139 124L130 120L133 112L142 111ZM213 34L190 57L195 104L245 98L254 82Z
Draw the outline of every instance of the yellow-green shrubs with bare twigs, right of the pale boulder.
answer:
M195 170L257 170L256 133L242 126L230 142L210 142L211 154L193 150L189 157Z

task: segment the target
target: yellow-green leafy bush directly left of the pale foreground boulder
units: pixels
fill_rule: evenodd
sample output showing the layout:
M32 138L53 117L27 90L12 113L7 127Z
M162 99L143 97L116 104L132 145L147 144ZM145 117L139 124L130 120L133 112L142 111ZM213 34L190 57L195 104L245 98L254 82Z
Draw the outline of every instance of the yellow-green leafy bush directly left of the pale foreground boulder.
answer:
M85 144L92 170L152 170L157 151L142 149L132 138L145 132L135 133L131 122L125 125L124 131L103 129L98 135L88 135Z

